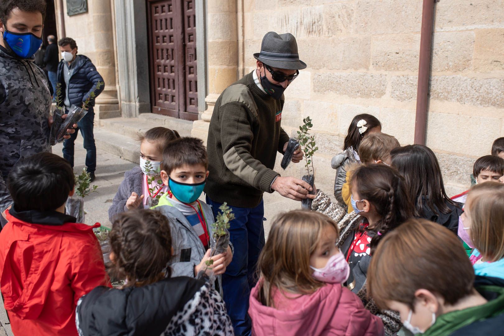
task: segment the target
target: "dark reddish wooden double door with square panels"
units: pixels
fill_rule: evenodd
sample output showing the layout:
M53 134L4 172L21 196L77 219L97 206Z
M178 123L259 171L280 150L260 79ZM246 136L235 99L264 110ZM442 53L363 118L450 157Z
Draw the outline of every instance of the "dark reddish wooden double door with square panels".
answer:
M153 113L198 119L196 0L147 0Z

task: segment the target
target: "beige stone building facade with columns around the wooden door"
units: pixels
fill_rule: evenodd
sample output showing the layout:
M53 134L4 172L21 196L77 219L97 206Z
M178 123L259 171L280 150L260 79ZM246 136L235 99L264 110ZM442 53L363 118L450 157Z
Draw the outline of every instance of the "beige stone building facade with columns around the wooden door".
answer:
M103 111L98 117L156 112L149 71L153 3L176 1L88 0L88 13L64 16L66 35L104 75L107 91L97 100ZM402 145L413 143L421 0L178 3L196 11L194 136L206 140L215 100L255 68L253 53L262 37L276 31L296 36L308 65L285 91L282 126L290 132L303 117L313 119L318 187L331 190L330 160L341 151L355 114L373 114L384 132ZM432 36L426 145L436 153L453 195L469 186L475 159L504 136L504 1L440 0ZM300 165L286 174L300 176Z

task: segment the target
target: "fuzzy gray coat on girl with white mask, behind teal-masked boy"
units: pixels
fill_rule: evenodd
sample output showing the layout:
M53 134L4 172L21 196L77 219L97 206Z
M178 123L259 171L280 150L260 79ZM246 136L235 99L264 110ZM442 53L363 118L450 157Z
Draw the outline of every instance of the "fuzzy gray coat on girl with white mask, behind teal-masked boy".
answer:
M112 200L112 205L108 208L108 219L110 222L112 222L115 215L124 212L124 207L132 192L135 191L137 195L142 195L143 177L144 173L140 169L140 166L124 173L124 179L117 189L117 193Z

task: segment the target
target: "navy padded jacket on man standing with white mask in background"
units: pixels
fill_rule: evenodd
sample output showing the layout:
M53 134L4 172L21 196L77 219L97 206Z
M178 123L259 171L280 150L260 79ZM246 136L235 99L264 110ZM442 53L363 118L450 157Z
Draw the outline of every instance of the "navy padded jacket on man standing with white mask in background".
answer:
M67 94L65 76L63 74L64 70L65 61L61 60L58 64L58 71L56 75L58 83L61 83L61 105L63 105ZM98 81L103 82L103 78L96 70L96 66L94 66L93 62L91 62L91 59L84 55L77 55L71 69L68 91L70 104L82 107L82 103L89 97L91 91L95 90ZM98 97L104 88L105 86L103 85L99 90L95 90L95 95ZM94 99L91 99L89 107L92 108L94 104Z

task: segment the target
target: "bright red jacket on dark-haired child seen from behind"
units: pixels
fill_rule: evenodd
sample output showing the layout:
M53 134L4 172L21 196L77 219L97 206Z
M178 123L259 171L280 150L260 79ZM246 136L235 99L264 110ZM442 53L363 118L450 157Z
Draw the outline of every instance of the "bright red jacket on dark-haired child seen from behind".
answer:
M79 298L96 286L110 286L93 233L100 224L75 223L54 211L11 210L7 220L0 232L0 289L12 331L77 335Z

